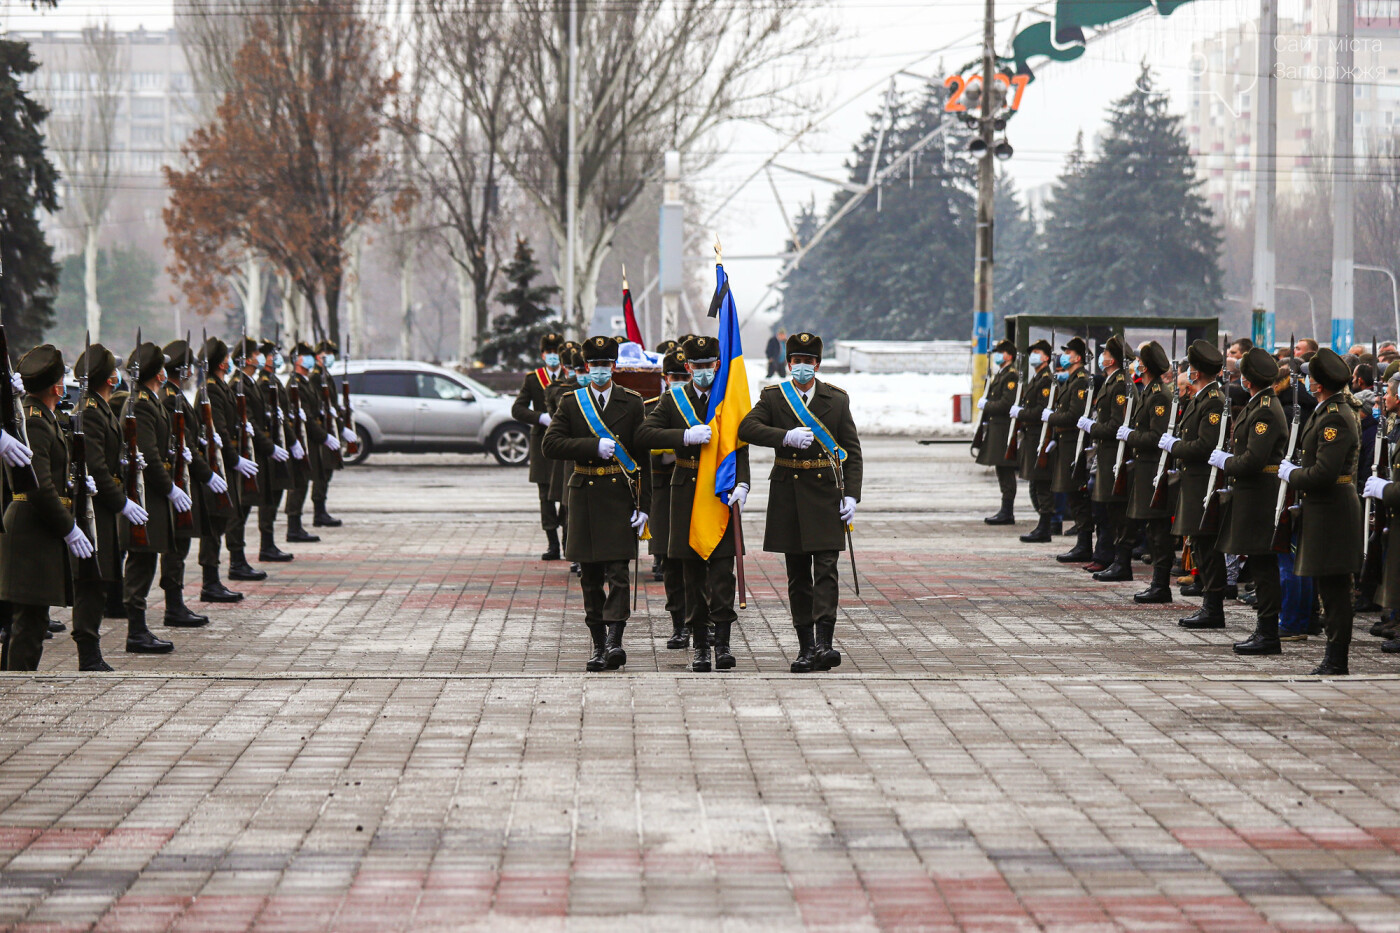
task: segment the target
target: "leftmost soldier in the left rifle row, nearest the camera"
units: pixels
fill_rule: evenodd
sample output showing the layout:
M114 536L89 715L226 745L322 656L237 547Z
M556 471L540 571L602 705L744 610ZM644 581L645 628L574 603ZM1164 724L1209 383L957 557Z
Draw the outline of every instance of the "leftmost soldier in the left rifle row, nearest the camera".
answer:
M14 493L6 509L0 600L11 607L6 670L36 671L49 633L49 607L73 602L71 559L91 558L92 542L74 524L73 500L64 496L69 445L53 413L63 398L63 356L49 343L36 346L20 357L18 374L25 391L29 468L38 488ZM15 489L14 471L7 462L8 489Z

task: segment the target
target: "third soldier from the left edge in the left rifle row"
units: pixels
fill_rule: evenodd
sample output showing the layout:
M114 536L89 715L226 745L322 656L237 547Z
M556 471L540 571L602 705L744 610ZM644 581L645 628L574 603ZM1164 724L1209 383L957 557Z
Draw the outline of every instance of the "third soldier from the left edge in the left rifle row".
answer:
M136 413L136 444L144 459L141 476L146 482L144 525L119 523L122 545L126 551L126 572L122 574L122 597L126 602L126 650L139 654L161 654L174 649L157 639L146 625L146 597L155 580L158 558L175 546L175 511L188 511L190 497L171 481L171 416L161 396L165 384L165 353L154 343L141 343L132 352L127 368L137 373L132 387L132 409ZM141 534L144 532L144 541ZM197 616L203 619L203 616ZM167 625L204 625L168 618Z

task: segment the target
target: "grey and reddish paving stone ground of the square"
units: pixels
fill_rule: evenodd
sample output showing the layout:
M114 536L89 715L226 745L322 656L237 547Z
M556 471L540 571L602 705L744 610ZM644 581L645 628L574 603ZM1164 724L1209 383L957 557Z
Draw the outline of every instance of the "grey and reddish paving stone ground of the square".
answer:
M1348 679L1306 677L1316 642L1235 658L1245 608L1184 632L1184 604L987 528L965 447L867 455L846 661L808 677L773 555L738 670L685 672L647 581L626 672L585 677L524 472L347 471L346 527L175 654L108 622L118 674L73 674L60 635L0 677L0 925L1400 930L1400 678L1373 639Z

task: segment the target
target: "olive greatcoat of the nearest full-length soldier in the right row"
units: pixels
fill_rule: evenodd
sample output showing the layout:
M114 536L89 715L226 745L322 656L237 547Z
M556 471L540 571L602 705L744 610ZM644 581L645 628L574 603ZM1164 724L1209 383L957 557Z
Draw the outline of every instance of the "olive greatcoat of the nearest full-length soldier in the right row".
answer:
M1361 569L1359 406L1347 392L1317 405L1298 438L1299 466L1288 485L1302 499L1294 573L1324 577Z

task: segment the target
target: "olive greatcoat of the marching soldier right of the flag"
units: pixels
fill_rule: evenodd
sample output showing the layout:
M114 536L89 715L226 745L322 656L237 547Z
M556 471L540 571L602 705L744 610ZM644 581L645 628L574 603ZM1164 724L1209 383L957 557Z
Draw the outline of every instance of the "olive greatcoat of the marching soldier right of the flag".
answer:
M860 502L865 471L850 398L844 389L816 380L808 408L846 451L846 461L841 464L846 495ZM773 472L769 474L769 511L767 525L763 530L763 549L776 553L844 551L841 495L830 466L792 469L777 464L777 459L827 461L825 448L816 441L806 450L783 445L787 433L801 426L802 422L777 385L764 387L753 410L739 423L739 440L777 451Z

